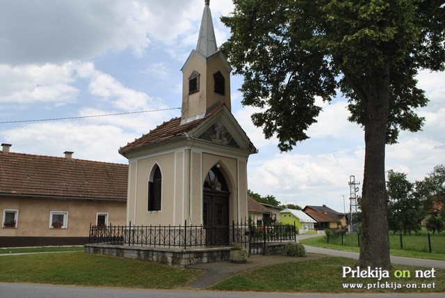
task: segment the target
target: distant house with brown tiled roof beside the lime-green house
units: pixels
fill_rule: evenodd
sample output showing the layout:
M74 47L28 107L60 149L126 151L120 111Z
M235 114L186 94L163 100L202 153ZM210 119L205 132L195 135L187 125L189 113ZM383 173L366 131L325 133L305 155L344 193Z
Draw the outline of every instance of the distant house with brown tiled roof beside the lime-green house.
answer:
M303 212L316 220L314 227L317 230L340 229L346 227L345 214L332 210L326 205L323 206L306 206Z

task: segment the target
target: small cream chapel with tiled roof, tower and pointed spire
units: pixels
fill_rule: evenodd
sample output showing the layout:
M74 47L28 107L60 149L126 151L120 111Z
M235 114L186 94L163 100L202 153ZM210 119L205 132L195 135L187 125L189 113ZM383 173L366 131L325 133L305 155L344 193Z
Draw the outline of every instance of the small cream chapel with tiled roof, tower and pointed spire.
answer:
M257 149L231 112L232 68L216 45L209 1L181 72L181 115L119 150L129 159L127 221L228 235L223 227L248 217L247 164Z

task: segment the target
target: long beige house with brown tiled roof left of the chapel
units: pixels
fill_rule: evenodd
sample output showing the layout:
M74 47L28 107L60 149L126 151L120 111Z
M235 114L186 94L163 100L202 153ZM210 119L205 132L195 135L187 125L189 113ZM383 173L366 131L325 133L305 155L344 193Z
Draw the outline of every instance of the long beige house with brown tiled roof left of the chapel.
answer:
M126 223L128 166L0 151L0 246L88 243L90 224Z

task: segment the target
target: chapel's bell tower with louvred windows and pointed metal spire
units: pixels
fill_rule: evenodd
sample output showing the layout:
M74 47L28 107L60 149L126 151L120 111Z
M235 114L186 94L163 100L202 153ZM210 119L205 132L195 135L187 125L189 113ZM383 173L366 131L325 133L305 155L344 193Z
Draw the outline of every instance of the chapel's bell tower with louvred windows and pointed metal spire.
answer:
M210 11L210 0L205 0L200 36L196 49L181 68L182 107L181 124L200 119L216 104L224 103L231 110L230 72L232 68L216 45Z

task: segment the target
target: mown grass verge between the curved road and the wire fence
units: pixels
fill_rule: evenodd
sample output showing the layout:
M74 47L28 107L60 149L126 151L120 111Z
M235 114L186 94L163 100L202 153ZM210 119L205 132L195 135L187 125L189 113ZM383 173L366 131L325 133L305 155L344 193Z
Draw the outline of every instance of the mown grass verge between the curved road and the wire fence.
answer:
M357 235L350 235L350 236L357 238ZM444 237L444 240L445 240L445 237ZM346 245L327 243L324 236L307 238L307 239L300 240L300 242L302 244L323 247L325 249L337 249L339 251L359 252L358 246L346 246ZM445 242L443 245L445 246ZM389 253L391 253L391 256L400 256L400 257L408 257L408 258L424 258L424 259L431 259L431 260L445 260L444 253L434 253L434 252L426 253L426 252L422 252L422 251L411 251L411 250L407 250L407 249L403 249L403 250L402 249L389 249Z

